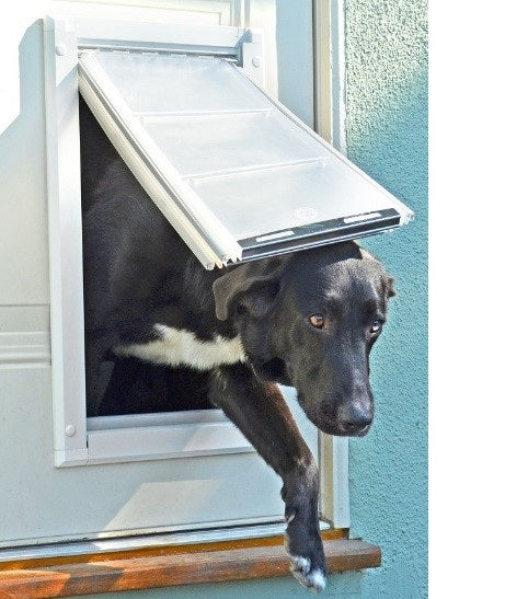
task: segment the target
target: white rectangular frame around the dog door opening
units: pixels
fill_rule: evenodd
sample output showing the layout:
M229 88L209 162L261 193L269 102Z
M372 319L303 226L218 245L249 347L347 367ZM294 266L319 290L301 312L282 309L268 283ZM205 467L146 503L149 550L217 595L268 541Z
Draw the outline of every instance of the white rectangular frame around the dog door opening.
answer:
M115 49L124 49L125 44L128 47L135 44L137 49L149 44L152 49L168 39L180 45L193 39L199 43L200 51L207 45L207 49L230 57L233 51L238 56L237 44L242 39L242 65L248 62L249 74L261 83L264 76L263 60L257 60L261 36L238 27L90 18L47 18L44 30L55 464L80 466L254 451L220 411L87 419L78 54L79 48L88 50L97 42ZM288 396L288 401L295 415L301 413L294 396ZM205 442L192 442L190 447L187 439L198 439L198 435ZM317 436L308 430L303 435L317 454ZM338 468L331 484L325 482L324 493L335 502L331 510L335 514L334 526L345 528L348 527L346 440L337 439L330 453L324 459Z

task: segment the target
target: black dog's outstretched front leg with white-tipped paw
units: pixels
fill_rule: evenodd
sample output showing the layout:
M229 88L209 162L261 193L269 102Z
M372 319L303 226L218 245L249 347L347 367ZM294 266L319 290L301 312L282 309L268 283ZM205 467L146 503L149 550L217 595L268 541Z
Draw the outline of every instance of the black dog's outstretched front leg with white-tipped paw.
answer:
M291 572L302 585L322 590L326 568L319 533L318 468L278 387L260 381L245 365L220 367L211 377L209 399L283 479Z

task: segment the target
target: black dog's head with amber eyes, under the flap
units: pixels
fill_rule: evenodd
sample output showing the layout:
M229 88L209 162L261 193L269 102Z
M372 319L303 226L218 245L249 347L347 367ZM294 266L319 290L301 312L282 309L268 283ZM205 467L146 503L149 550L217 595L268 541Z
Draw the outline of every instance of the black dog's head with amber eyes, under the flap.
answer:
M259 377L295 387L321 430L368 431L368 356L394 295L374 256L346 242L252 262L220 276L214 295Z

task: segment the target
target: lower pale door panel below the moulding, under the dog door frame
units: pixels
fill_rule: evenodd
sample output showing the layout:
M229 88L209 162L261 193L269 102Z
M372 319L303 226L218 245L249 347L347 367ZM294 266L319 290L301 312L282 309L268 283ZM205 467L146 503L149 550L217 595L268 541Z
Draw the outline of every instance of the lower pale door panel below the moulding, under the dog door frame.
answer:
M282 517L254 453L54 468L47 364L0 366L0 545Z

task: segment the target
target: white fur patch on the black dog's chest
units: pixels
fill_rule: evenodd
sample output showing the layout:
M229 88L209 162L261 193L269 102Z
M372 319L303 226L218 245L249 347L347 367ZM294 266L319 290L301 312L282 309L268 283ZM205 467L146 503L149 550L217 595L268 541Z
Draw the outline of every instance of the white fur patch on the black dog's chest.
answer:
M164 324L154 324L154 332L159 338L142 344L119 345L114 352L152 364L187 366L195 370L211 370L245 359L239 336L227 339L216 335L213 341L203 341L191 331Z

